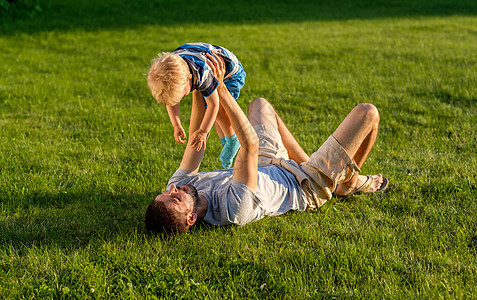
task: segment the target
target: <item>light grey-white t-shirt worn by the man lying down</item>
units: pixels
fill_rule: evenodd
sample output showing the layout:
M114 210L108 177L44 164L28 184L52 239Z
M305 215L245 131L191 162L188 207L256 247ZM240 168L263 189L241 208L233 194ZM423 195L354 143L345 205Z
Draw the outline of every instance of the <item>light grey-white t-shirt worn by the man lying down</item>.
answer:
M169 179L167 188L171 184L194 186L209 203L203 221L212 225L244 225L264 216L306 209L305 193L287 170L275 165L259 167L256 193L234 181L232 172L233 169L191 173L179 169Z

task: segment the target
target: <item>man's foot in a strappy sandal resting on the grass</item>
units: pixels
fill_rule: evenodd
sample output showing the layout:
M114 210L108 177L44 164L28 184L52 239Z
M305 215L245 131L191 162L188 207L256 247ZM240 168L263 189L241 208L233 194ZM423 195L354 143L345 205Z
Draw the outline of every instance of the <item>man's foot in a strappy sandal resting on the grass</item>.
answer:
M369 194L382 192L388 188L389 181L381 174L377 175L359 175L355 186L349 186L346 183L340 183L336 188L335 194L338 197L346 197L350 194Z

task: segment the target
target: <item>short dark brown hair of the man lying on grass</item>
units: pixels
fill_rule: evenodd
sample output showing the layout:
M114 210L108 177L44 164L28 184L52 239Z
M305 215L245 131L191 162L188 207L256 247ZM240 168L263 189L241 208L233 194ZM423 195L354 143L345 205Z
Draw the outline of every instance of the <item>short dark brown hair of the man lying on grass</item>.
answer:
M154 233L185 233L189 230L185 216L171 210L161 201L153 200L146 209L146 229Z

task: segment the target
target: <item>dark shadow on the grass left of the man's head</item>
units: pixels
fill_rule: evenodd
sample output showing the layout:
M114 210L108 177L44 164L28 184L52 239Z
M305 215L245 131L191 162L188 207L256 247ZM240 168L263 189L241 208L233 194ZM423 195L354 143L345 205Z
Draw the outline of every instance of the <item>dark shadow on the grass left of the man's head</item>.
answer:
M76 248L110 241L121 234L145 234L149 195L26 195L20 207L0 224L0 245Z

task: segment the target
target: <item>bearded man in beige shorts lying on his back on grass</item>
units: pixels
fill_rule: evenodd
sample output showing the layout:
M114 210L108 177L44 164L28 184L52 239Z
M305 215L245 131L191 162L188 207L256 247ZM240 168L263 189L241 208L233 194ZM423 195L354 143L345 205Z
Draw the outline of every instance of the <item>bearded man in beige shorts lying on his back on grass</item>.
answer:
M199 221L243 225L289 210L318 208L333 192L343 197L387 188L381 174L359 174L378 134L376 107L356 106L308 157L265 99L250 104L247 119L223 83L224 61L209 55L208 63L242 147L233 169L198 173L204 150L189 140L167 190L147 207L148 230L183 233ZM201 101L192 103L189 132L200 126L204 111Z

